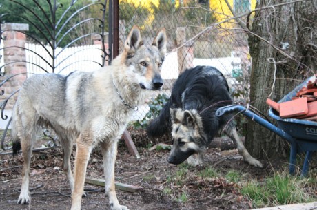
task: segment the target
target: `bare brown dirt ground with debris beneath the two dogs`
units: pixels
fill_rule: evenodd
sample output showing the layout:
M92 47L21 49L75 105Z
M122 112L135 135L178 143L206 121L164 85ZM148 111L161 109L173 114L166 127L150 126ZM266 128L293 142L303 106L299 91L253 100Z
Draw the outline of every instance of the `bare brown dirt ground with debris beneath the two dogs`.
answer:
M141 145L141 137L132 135L141 158L132 156L123 142L119 143L116 159L116 181L142 187L134 193L116 190L119 202L129 209L252 209L252 201L239 193L239 183L230 182L224 176L202 178L198 176L209 166L220 174L232 169L241 176L261 180L275 170L283 170L283 164L263 162L258 169L243 162L236 150L208 149L203 167L174 166L167 163L168 150L149 151ZM138 139L136 139L138 138ZM73 152L74 154L74 152ZM34 153L30 171L30 205L17 204L21 187L22 157L0 156L0 209L70 209L70 188L61 169L60 147ZM74 156L72 156L74 163ZM185 168L185 174L178 172ZM88 164L87 176L103 178L102 158L96 148ZM87 196L82 209L110 209L103 187L85 184ZM182 199L185 195L185 199ZM183 196L183 197L182 197Z

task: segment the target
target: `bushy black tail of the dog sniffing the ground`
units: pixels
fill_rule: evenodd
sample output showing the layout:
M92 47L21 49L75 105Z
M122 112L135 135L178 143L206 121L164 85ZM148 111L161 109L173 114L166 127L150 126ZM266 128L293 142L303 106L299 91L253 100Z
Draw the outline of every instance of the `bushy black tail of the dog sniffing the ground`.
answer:
M171 100L165 103L163 109L161 109L160 115L152 120L147 126L147 135L150 137L161 137L165 133L170 132L170 107L172 105Z

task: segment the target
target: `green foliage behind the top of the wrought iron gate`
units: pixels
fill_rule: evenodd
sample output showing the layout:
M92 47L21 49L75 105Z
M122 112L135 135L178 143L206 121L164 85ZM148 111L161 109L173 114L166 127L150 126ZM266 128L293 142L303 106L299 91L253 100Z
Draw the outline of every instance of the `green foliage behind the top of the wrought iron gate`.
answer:
M98 1L94 0L59 0L54 7L54 1L9 1L3 0L0 6L1 23L28 23L28 40L37 39L41 43L56 41L57 47L63 47L92 32L100 32L103 9ZM84 7L83 6L87 6ZM106 14L108 17L108 14ZM84 23L81 23L83 20ZM81 24L79 24L81 23ZM76 25L77 24L77 25ZM70 30L73 28L70 32ZM56 31L56 33L54 32ZM108 31L108 24L105 24L105 31ZM31 36L34 39L30 39ZM91 44L91 37L85 36L79 39L74 45Z

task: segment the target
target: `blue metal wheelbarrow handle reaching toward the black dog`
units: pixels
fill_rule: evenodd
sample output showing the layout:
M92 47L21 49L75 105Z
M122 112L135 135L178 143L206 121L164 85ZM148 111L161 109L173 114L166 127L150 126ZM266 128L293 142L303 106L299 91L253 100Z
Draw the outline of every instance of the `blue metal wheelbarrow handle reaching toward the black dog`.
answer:
M256 121L256 123L262 125L263 127L266 127L270 131L274 132L275 134L278 134L278 136L284 138L289 143L295 143L295 138L293 138L291 135L287 134L283 131L283 129L280 129L279 127L276 127L272 123L269 123L264 118L261 118L251 110L247 109L247 107L243 107L241 105L227 105L225 107L220 107L216 111L216 116L220 117L223 114L228 114L231 112L239 112L248 118L251 118L252 120Z

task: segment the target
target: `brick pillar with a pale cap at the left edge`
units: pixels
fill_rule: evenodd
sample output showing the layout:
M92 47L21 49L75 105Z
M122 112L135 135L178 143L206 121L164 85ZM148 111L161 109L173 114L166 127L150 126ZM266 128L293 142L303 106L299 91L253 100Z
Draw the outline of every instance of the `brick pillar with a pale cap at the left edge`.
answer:
M3 60L5 63L4 72L5 75L0 77L0 82L6 78L13 76L5 84L0 87L0 91L3 90L4 94L0 96L0 101L5 100L12 92L18 90L21 87L23 81L26 79L26 63L25 61L25 34L21 33L23 31L28 31L28 24L21 23L4 23L1 24L2 37L3 37ZM10 64L9 64L10 63ZM8 65L6 65L8 64ZM17 94L15 94L7 103L6 109L12 109L15 101L17 99Z

